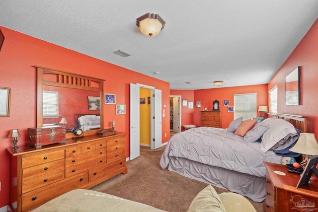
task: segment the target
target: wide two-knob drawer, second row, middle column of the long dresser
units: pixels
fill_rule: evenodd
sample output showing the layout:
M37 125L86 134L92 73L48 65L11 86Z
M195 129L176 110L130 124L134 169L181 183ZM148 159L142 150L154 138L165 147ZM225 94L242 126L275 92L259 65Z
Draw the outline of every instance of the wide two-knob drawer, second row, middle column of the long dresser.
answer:
M106 148L96 149L91 152L78 154L72 157L65 158L65 167L78 165L80 163L86 163L96 158L103 156L106 159Z

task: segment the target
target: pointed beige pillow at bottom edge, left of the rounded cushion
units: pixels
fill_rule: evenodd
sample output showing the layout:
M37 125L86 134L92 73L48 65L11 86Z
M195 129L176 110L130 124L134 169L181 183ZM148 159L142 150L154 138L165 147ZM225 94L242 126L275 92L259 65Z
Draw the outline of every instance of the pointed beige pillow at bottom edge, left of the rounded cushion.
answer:
M187 212L225 212L219 195L211 185L205 187L192 200Z

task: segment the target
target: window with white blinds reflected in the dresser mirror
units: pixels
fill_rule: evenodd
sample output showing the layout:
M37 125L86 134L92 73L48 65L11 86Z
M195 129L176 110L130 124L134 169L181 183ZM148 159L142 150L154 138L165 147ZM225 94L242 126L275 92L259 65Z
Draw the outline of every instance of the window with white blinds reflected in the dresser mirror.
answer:
M43 117L59 116L59 93L43 91Z

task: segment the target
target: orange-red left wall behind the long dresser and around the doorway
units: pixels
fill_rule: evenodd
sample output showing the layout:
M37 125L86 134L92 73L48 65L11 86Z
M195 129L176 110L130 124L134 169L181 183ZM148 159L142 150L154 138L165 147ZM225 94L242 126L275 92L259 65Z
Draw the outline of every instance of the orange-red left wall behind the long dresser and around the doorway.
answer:
M11 88L10 116L0 117L0 208L9 202L9 153L11 129L19 129L18 145L24 145L27 128L36 127L36 69L34 65L102 78L104 92L116 94L116 103L126 105L125 115L116 115L115 105L103 105L104 126L116 121L116 131L129 133L129 83L141 83L162 91L162 105L169 105L169 83L0 26L5 37L0 51L0 86ZM109 50L113 51L113 50ZM114 56L117 57L117 56ZM162 107L162 106L161 106ZM169 116L162 117L162 143L168 141ZM129 135L126 136L129 156Z

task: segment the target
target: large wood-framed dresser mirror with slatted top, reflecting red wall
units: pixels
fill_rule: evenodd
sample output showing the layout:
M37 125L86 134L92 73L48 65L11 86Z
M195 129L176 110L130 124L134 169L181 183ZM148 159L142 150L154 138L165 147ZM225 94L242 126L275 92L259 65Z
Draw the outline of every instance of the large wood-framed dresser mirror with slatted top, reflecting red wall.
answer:
M100 129L103 129L103 79L89 76L57 71L43 67L37 67L37 127L46 125L65 125L67 129L66 138L72 138L73 129L77 125L80 115L97 115L100 118ZM43 91L58 92L59 116L44 117L43 115ZM91 110L89 98L100 99L100 107ZM98 110L99 109L99 110ZM65 118L67 124L60 124ZM84 130L85 127L85 130ZM96 135L97 127L87 128L82 126L85 135Z

